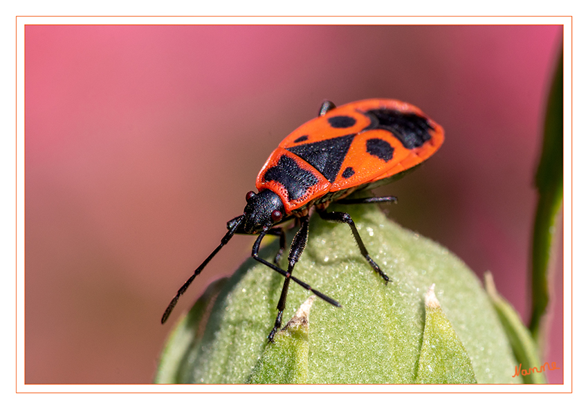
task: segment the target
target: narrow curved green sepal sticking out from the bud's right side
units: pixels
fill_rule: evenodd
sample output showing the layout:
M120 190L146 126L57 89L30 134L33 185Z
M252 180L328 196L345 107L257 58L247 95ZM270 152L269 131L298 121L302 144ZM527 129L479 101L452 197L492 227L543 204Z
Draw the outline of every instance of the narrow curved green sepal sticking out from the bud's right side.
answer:
M529 374L521 376L524 383L547 383L544 370L541 369L541 362L538 354L538 348L531 336L529 329L523 324L517 311L508 302L500 296L492 274L486 273L484 275L484 284L486 285L486 292L490 296L490 300L498 313L498 318L502 322L502 327L506 331L506 336L511 343L515 358L519 362L519 370L513 370L514 374L521 374L521 370L529 370ZM535 368L535 370L532 370ZM531 370L530 370L531 369ZM538 371L541 372L538 372Z

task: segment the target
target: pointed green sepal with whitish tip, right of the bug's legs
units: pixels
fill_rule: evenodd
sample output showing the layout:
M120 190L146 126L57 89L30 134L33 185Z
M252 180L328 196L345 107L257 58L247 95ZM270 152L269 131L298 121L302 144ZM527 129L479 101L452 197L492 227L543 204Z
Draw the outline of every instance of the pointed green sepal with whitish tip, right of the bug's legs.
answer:
M425 295L425 333L415 383L477 383L468 352L443 313L434 287Z

